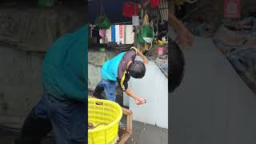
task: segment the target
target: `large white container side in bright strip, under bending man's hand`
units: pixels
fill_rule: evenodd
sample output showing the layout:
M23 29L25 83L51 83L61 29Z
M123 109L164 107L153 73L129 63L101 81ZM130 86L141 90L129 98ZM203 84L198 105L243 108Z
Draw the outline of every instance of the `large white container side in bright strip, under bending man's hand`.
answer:
M168 79L154 62L146 65L142 79L130 78L129 88L138 96L146 98L146 104L137 106L130 98L129 106L135 121L146 122L168 129ZM124 94L124 103L128 96Z

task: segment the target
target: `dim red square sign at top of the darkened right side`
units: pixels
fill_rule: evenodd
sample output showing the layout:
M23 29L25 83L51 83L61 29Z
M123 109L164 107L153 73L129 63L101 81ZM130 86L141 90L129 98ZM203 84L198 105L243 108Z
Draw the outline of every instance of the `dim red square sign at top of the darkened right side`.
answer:
M224 17L240 18L241 0L225 0L224 2Z

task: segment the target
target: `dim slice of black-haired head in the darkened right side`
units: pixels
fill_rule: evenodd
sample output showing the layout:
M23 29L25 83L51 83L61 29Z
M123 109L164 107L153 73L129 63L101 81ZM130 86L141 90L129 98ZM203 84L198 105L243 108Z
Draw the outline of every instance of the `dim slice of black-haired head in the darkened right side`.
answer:
M168 75L170 76L168 91L172 93L182 82L185 71L185 59L182 50L171 38L168 40L168 49L170 50L168 52Z

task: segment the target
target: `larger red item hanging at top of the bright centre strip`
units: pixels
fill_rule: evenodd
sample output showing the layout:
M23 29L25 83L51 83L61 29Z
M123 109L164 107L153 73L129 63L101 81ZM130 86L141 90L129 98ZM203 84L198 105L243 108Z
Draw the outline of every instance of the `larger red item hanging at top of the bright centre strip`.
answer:
M122 6L122 15L128 18L132 18L134 15L138 15L137 3L126 2Z

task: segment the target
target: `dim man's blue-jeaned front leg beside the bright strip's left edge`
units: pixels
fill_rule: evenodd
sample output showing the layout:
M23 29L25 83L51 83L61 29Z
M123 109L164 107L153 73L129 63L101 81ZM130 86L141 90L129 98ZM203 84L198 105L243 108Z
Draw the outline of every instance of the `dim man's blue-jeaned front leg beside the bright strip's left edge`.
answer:
M87 106L74 100L59 101L49 95L49 118L54 129L56 144L87 143Z

